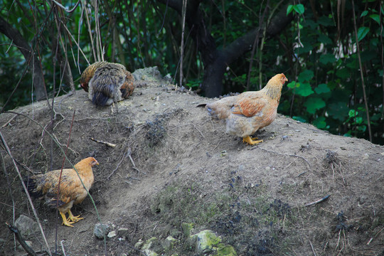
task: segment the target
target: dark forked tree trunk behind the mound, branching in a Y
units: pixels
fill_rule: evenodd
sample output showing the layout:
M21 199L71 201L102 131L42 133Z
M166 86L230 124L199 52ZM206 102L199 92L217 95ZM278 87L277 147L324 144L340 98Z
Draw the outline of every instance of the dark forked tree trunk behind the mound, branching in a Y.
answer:
M162 4L176 10L181 15L182 0L158 0ZM305 4L305 0L302 4ZM202 11L199 9L201 0L188 0L186 11L186 22L190 29L190 36L195 41L198 51L204 64L203 91L206 97L218 97L223 92L223 77L225 68L236 59L252 49L257 33L261 33L261 28L255 28L244 36L228 44L225 48L218 50L215 40L206 28ZM267 31L267 38L272 38L279 33L292 21L294 16L287 16L287 6L284 6L272 18ZM259 37L260 38L260 37Z

